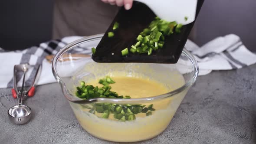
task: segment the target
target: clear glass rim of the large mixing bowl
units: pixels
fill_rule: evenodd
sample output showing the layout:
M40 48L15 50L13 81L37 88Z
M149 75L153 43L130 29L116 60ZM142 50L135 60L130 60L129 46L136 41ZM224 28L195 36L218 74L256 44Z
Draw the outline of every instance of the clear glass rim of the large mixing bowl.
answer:
M72 43L67 44L66 46L64 46L62 49L60 49L56 55L53 57L53 61L52 61L52 72L53 72L53 76L56 79L56 81L60 84L61 88L62 88L62 92L65 95L65 97L69 100L72 101L74 103L78 103L78 104L87 104L87 103L92 103L92 102L104 102L104 103L115 103L115 104L124 104L124 103L137 103L137 102L148 102L148 101L153 101L153 100L160 100L160 99L165 99L165 98L169 98L172 97L174 95L177 95L180 92L183 92L185 89L189 88L191 85L194 84L194 82L197 79L198 76L198 63L197 60L194 58L194 56L188 52L186 49L183 49L182 54L184 54L192 63L193 65L193 76L190 78L190 80L188 80L184 85L182 85L181 87L168 92L166 94L163 95L157 95L154 97L148 97L148 98L131 98L131 99L120 99L120 98L92 98L89 100L84 100L81 98L76 97L75 95L70 94L69 90L66 88L65 83L62 81L61 77L58 75L57 70L56 70L56 65L58 63L59 58L67 51L73 49L74 47L82 44L82 43L86 43L89 41L93 41L93 40L97 40L97 39L101 39L102 36L104 34L97 34L97 35L92 35L92 36L85 36L81 39L78 39Z

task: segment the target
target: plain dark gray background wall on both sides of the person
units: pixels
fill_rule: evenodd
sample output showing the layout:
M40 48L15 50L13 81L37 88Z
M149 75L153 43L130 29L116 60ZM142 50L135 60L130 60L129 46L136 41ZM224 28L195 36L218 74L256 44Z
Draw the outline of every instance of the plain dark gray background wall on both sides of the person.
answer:
M51 39L53 0L0 1L0 47L25 49ZM256 0L205 0L197 19L195 42L202 45L234 33L256 51Z

